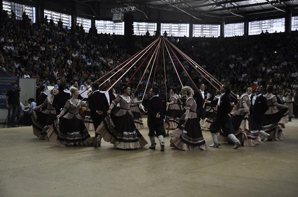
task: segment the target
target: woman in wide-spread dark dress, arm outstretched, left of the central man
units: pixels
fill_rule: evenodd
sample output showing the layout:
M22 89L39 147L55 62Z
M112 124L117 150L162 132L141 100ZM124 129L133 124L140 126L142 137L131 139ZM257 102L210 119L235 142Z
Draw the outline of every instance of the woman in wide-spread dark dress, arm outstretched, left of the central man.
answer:
M115 99L107 112L106 118L100 123L96 129L96 133L100 134L104 141L110 142L114 148L120 149L136 149L143 148L147 145L147 141L136 129L130 105L133 103L141 103L142 101L133 101L130 95L130 87L127 84L121 85L121 96ZM120 103L120 110L115 116L109 116L111 110Z

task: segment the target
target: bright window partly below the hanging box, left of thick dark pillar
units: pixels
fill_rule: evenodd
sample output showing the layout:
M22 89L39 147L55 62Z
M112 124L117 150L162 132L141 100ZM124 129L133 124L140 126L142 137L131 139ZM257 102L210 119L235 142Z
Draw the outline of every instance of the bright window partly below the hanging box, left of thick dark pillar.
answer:
M107 33L116 35L124 35L124 22L122 23L114 23L113 21L106 20L96 20L95 26L97 29L97 33Z

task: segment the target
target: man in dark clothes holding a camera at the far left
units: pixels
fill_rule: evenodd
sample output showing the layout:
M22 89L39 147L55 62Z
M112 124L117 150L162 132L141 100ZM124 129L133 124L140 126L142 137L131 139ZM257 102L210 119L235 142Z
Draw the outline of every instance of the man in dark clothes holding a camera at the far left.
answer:
M8 109L7 128L16 127L14 125L14 121L20 105L19 90L20 88L18 88L18 84L14 83L12 85L12 90L7 91L6 93L5 102L6 102L6 108Z

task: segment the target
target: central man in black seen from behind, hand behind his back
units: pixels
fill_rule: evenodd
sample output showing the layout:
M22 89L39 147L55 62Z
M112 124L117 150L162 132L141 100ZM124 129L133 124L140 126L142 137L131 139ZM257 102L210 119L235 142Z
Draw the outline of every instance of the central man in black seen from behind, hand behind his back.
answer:
M149 127L149 138L151 142L150 149L155 149L155 133L160 143L160 151L164 151L164 136L165 130L163 127L163 100L158 97L158 88L152 87L150 90L150 99L147 104L148 109L148 127Z

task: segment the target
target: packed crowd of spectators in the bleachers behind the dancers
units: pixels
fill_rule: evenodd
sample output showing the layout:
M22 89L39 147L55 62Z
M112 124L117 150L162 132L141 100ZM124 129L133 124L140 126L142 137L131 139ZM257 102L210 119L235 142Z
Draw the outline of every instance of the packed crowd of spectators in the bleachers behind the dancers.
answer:
M45 18L38 27L23 14L16 20L15 14L3 10L0 15L0 61L1 69L11 76L37 78L37 87L46 79L54 86L59 79L67 87L95 81L112 68L124 62L133 54L127 54L124 36L98 34L95 27L85 33L82 25L68 29L61 21L54 24ZM298 88L298 33L273 33L256 36L231 38L179 38L171 42L202 66L221 83L229 84L232 90L239 90L241 84L252 88L273 85L275 94L284 89ZM135 51L139 51L155 40L154 36L135 36ZM167 57L169 58L169 57ZM148 60L147 60L148 61ZM180 59L184 68L196 84L201 82L207 91L215 94L215 89L192 66ZM171 64L167 62L167 84L179 87L179 81ZM119 81L128 81L137 69ZM178 69L181 79L181 69ZM144 71L144 70L143 70ZM131 87L138 86L142 70L134 76ZM148 81L149 73L142 80L139 93ZM162 78L161 74L161 78ZM207 77L208 78L208 77ZM151 83L151 82L149 82ZM158 82L153 82L158 84ZM116 86L116 90L117 86ZM161 93L164 94L164 93Z

